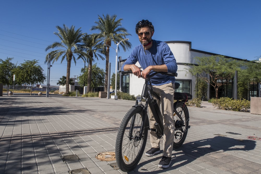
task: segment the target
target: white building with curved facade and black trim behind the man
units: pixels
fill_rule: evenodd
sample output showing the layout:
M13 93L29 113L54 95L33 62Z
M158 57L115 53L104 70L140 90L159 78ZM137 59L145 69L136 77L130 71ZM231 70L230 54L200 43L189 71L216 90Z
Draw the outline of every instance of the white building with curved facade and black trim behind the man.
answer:
M178 65L178 71L177 71L178 76L176 77L176 82L180 83L180 88L176 89L176 92L190 93L194 98L195 97L194 90L196 88L197 78L187 73L186 69L190 68L188 64L194 64L195 57L205 57L205 56L218 55L218 54L192 49L191 42L189 41L166 41L166 43L169 45L170 50L173 52ZM236 60L242 60L235 57L229 57L229 56L225 56L225 57L233 58ZM124 61L125 60L120 60L119 68L121 68L121 65L123 64ZM140 67L138 63L136 65ZM120 79L121 79L120 91L129 93L131 95L134 94L135 96L141 94L144 85L144 79L138 78L133 74L121 75ZM224 87L221 90L223 90L221 91L222 93L221 95L223 95L222 97L233 98L234 95L233 82L232 84L229 84L229 86ZM207 100L209 100L211 97L213 97L213 90L211 89L211 87L208 87Z

